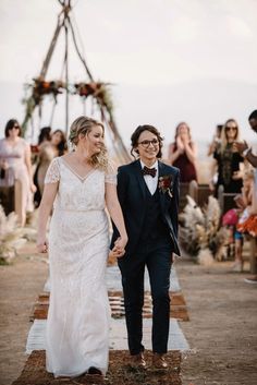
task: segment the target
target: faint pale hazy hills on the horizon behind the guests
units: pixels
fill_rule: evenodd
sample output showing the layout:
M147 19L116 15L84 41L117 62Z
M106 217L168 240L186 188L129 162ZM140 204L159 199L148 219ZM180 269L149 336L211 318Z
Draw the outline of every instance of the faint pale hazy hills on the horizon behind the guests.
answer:
M112 86L114 117L126 145L132 131L144 123L157 125L167 142L173 140L174 128L186 121L195 141L210 141L215 125L234 117L242 136L254 141L247 117L257 108L257 85L224 80L199 80L173 85L143 86L119 84ZM11 117L20 121L24 116L21 99L23 84L0 82L0 136ZM49 123L50 106L45 108L42 124ZM90 108L87 113L90 115ZM71 98L71 120L83 113L78 97ZM64 105L60 103L53 128L63 128Z

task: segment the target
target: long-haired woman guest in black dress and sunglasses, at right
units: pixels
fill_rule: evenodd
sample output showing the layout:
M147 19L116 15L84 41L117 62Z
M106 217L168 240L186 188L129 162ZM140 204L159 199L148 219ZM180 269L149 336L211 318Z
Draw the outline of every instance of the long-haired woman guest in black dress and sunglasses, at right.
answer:
M218 181L213 185L213 176L211 176L210 189L215 191L215 196L218 196L220 185L223 185L225 193L241 192L244 158L233 145L238 139L240 128L237 122L234 119L227 120L221 131L221 143L213 153L212 173L218 169Z

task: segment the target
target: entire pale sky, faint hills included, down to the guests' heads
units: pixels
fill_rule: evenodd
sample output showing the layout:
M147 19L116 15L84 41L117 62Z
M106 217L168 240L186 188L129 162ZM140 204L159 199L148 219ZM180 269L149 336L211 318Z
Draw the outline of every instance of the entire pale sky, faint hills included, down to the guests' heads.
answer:
M115 118L124 141L142 123L169 140L186 120L197 140L234 117L254 140L248 113L257 108L256 0L74 0L87 63L96 80L113 83ZM0 127L23 118L22 84L39 74L60 4L0 0ZM48 79L58 79L63 36ZM73 49L71 81L85 72ZM12 84L12 85L11 85ZM73 115L81 113L81 104ZM79 112L81 111L81 112ZM56 124L63 122L59 110Z

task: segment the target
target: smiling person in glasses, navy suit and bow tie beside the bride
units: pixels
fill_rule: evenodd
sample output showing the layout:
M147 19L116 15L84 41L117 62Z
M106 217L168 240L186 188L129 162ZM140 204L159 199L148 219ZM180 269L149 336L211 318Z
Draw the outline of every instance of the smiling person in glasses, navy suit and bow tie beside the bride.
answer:
M160 161L162 137L152 125L139 125L131 137L137 159L118 170L118 196L128 236L118 260L122 275L131 364L146 368L143 338L144 274L147 267L152 297L152 365L166 361L170 324L170 270L178 245L180 171ZM136 155L136 156L135 156ZM112 246L119 239L113 227ZM115 249L114 249L115 250Z

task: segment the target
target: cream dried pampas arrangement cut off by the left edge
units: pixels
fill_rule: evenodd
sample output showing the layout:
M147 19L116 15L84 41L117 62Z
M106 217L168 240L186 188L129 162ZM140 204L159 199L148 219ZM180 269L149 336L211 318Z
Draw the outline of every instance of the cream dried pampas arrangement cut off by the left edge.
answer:
M16 256L17 249L25 243L24 229L17 227L15 213L5 216L0 205L0 264L9 264Z

